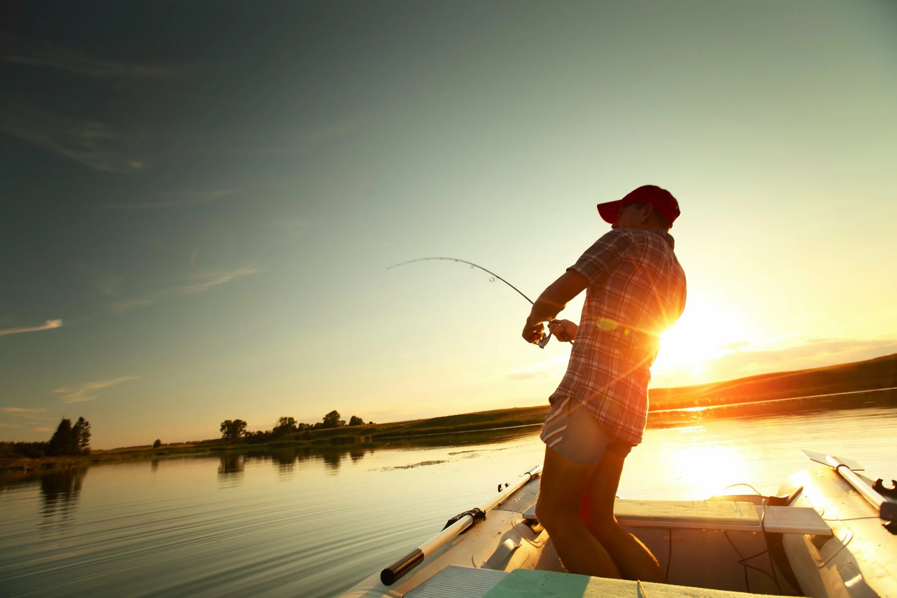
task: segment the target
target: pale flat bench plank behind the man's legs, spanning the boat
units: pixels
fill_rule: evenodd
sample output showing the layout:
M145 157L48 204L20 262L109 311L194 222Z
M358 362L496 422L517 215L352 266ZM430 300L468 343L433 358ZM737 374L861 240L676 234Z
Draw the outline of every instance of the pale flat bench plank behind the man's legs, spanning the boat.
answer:
M524 519L535 520L535 508ZM627 500L617 498L614 516L621 525L676 529L718 529L830 536L832 528L810 507L763 507L731 500Z

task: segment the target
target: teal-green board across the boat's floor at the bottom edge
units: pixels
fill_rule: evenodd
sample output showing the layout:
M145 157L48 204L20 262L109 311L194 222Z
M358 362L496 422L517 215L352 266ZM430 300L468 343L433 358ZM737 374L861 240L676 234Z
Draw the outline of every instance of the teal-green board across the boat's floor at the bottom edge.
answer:
M625 579L579 576L554 571L515 569L484 598L750 598L746 594L684 585L654 584Z

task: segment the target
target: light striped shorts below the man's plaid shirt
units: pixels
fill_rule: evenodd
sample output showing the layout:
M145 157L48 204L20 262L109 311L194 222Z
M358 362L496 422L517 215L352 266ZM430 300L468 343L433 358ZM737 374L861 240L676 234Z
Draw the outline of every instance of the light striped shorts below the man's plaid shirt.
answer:
M611 436L582 403L570 397L552 405L539 438L574 463L597 463L605 450L623 457L632 450L631 444Z

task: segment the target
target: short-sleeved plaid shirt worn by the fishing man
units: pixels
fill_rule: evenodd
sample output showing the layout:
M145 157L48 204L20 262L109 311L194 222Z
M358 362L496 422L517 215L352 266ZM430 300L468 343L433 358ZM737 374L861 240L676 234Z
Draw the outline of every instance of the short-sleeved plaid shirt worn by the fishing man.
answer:
M614 229L568 268L588 280L570 363L549 401L583 403L614 437L641 442L659 334L685 307L685 273L664 230Z

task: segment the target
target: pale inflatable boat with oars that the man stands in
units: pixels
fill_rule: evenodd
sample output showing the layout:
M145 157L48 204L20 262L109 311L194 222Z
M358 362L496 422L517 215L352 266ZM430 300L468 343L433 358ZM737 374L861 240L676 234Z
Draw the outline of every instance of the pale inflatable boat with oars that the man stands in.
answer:
M536 467L343 596L897 598L897 484L803 452L821 466L792 474L775 496L617 498L617 521L655 555L666 584L566 573L536 519Z

